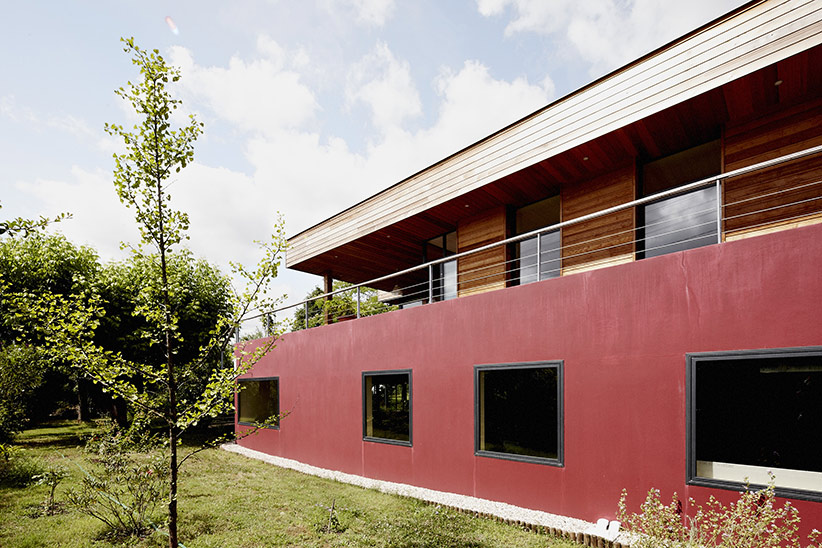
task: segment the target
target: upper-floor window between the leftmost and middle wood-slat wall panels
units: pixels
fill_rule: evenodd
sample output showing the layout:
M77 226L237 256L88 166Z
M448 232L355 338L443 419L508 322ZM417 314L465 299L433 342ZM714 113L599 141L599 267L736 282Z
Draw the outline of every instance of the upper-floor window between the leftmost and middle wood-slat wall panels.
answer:
M516 212L516 233L525 234L560 221L559 195L551 196L521 207ZM562 250L560 232L542 232L515 244L516 267L513 269L514 284L527 284L537 280L555 278L561 273Z

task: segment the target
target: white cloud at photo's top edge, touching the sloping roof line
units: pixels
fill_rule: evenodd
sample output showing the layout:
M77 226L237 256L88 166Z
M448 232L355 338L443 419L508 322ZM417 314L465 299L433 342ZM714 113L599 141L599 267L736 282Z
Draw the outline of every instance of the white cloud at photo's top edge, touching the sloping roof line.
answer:
M477 0L486 17L516 15L507 35L562 34L600 75L662 46L739 4L739 0Z

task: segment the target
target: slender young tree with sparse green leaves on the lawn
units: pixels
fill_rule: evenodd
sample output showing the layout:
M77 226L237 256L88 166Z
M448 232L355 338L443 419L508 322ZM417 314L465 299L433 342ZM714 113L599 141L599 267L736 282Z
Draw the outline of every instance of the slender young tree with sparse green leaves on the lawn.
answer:
M168 534L169 546L175 548L179 545L178 472L187 458L202 449L178 455L181 436L204 418L233 410L236 378L273 348L276 337L256 345L233 367L212 369L199 393L189 392L192 376L186 372L202 371L204 363L230 347L239 322L250 310L274 308L277 300L269 297L266 289L277 274L285 238L280 220L271 239L260 244L264 257L255 269L232 265L235 277L245 280L246 289L233 295L231 313L218 320L195 356L189 358L181 353L191 333L186 332L179 307L175 307L180 287L171 276L171 265L180 253L185 253L182 244L187 239L189 220L184 212L171 207L168 185L175 173L193 161L194 142L202 132L202 124L191 116L186 125L172 126L172 114L180 101L172 97L167 86L179 80L179 71L167 65L157 50L143 50L133 38L123 42L124 51L140 70L141 80L129 82L116 93L131 104L140 122L131 130L107 124L106 131L122 138L125 144L126 151L114 155L114 185L121 202L133 209L140 229L141 245L133 251L153 273L141 287L152 298L141 300L135 313L142 316L151 343L162 349L160 359L153 361L151 355L129 358L94 342L93 333L103 313L99 296L81 302L45 294L36 301L18 301L18 307L21 314L38 319L34 327L52 352L165 426L170 470ZM146 247L149 252L144 251ZM189 397L181 397L184 392ZM264 425L276 419L271 417Z

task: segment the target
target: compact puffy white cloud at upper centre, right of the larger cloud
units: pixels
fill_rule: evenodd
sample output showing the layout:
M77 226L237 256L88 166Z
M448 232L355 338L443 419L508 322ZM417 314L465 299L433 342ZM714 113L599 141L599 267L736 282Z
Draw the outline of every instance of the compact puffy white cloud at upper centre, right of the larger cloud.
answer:
M383 132L422 114L411 67L394 57L385 43L352 67L346 97L349 104L365 103L371 109L372 122Z

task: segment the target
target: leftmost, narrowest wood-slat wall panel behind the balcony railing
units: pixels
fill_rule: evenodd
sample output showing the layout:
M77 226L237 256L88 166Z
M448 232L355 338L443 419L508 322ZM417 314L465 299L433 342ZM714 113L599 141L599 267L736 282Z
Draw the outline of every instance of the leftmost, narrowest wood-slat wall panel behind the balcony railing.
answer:
M457 227L459 252L505 239L505 208L497 207L472 217ZM459 259L459 296L505 287L506 246L474 253Z

